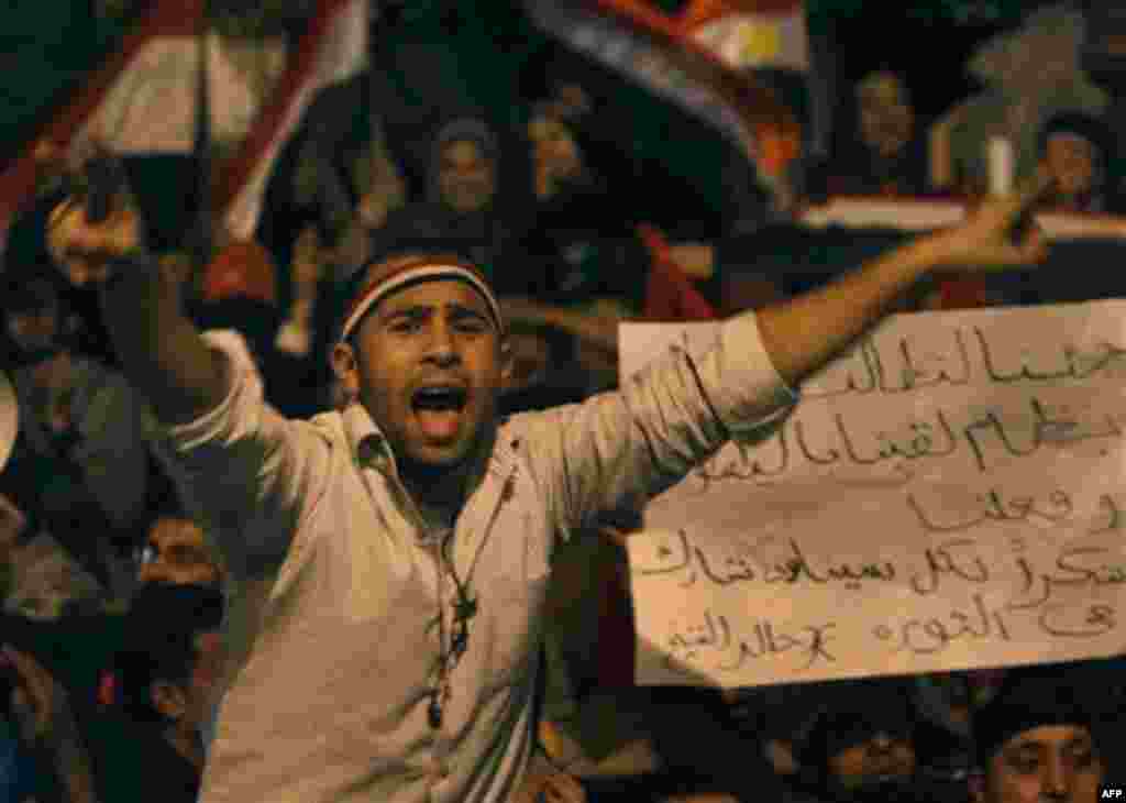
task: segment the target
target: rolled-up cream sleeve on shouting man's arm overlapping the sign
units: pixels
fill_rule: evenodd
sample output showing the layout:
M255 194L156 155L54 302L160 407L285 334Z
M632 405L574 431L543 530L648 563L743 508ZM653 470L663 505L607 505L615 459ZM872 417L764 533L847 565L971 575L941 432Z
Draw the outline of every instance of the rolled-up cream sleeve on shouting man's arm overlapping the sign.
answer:
M526 413L527 460L566 537L607 511L638 509L732 437L776 426L797 398L743 313L709 347L670 349L615 392Z

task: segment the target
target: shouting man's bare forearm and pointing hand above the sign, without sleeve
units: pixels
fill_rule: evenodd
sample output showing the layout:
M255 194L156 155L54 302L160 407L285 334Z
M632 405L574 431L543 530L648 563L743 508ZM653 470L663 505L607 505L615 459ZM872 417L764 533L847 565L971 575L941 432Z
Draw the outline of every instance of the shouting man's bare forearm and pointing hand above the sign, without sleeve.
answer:
M876 323L915 282L954 268L995 270L1043 259L1037 235L1009 241L1043 186L988 202L962 225L920 238L828 286L758 313L762 343L779 376L796 387Z

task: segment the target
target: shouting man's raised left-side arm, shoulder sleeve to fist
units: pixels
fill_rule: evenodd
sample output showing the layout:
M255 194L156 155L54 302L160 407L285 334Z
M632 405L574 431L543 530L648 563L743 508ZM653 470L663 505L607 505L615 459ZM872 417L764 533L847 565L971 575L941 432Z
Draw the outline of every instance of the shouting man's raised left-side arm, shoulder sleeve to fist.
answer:
M64 205L51 224L55 259L87 260L101 285L126 377L162 425L154 453L229 571L250 577L279 565L316 496L310 489L328 474L327 443L270 408L244 347L196 330L180 278L137 248L135 213L91 224L82 207Z

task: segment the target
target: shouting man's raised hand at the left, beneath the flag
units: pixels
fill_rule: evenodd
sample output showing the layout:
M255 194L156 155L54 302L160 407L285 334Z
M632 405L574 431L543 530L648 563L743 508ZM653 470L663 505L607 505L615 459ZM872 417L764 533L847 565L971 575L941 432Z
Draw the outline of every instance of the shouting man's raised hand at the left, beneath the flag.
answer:
M141 222L129 208L116 208L91 223L77 197L63 200L47 217L47 251L71 284L83 286L109 277L109 265L142 247Z

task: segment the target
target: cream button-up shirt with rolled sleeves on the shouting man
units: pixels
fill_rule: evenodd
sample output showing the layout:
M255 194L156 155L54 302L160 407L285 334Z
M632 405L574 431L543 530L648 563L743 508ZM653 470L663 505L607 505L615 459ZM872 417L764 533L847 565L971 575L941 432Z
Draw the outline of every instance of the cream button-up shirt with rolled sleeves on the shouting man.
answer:
M158 445L235 577L231 677L200 800L507 800L534 744L555 544L664 490L730 434L770 426L795 401L752 313L720 332L705 353L670 353L618 392L501 425L450 542L477 613L438 730L427 707L455 589L394 455L359 405L283 418L245 349L209 336L227 355L229 392Z

